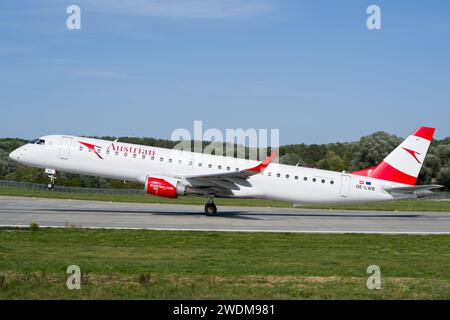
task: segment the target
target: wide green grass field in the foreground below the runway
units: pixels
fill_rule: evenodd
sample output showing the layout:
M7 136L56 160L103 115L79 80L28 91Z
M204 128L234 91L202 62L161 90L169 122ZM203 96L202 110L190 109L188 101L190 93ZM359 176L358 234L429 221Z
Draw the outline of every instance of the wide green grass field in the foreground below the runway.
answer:
M0 229L0 299L450 299L450 236ZM65 287L76 264L81 290ZM366 287L379 265L381 290Z

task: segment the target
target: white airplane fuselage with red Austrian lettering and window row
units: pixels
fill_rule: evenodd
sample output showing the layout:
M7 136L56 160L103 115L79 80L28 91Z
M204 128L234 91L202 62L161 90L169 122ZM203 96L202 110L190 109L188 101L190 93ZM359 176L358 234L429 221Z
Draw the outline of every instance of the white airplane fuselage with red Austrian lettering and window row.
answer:
M44 144L27 144L12 159L34 167L145 183L148 176L220 174L255 167L257 161L140 146L75 136L52 135ZM80 143L83 142L84 144ZM95 146L95 147L93 147ZM392 200L385 187L402 186L348 173L271 163L232 190L234 197L298 204L360 203ZM219 195L220 196L220 195Z

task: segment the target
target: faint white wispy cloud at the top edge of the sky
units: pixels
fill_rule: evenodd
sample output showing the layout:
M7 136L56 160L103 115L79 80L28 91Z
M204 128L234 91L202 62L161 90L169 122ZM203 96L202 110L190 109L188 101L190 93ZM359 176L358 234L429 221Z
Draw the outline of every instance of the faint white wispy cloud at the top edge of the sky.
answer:
M240 19L273 10L269 0L81 0L99 12L189 19Z

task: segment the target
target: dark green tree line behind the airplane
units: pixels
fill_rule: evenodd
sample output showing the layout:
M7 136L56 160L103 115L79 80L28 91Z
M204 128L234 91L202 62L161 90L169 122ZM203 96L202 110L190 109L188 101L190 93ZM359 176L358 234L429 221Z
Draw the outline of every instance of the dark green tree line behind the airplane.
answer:
M115 140L116 137L100 137ZM137 137L120 137L121 142L135 143L162 148L173 148L179 142ZM333 171L352 172L377 165L401 142L402 138L386 132L375 132L359 141L328 144L291 144L280 147L280 163L300 165ZM28 141L17 138L0 139L0 179L47 183L43 170L31 168L12 161L8 155ZM203 144L204 147L207 142ZM225 148L224 148L225 150ZM250 149L246 148L246 155ZM59 173L57 183L64 186L90 188L142 188L136 183ZM433 140L428 156L419 175L419 184L441 184L450 190L450 137Z

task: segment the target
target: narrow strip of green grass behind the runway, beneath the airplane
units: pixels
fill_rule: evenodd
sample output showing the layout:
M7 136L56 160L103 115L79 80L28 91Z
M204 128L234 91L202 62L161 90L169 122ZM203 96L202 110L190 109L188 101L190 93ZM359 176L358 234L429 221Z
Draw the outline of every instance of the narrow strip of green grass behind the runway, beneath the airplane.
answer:
M68 193L35 189L19 189L0 187L0 196L22 196L37 198L73 199L73 200L93 200L112 202L132 202L132 203L159 203L159 204L192 204L204 205L203 197L180 197L177 199L166 199L151 195L123 195L123 194L100 194L100 193ZM216 199L219 206L257 206L292 208L292 204L283 201L261 200L261 199ZM327 210L367 210L367 211L432 211L450 212L450 201L438 200L403 200L357 205L308 205L301 206L308 209Z

